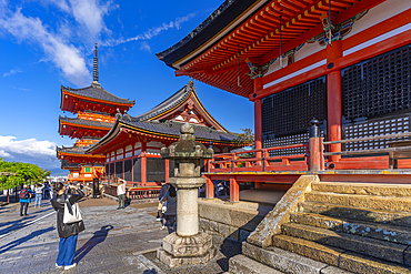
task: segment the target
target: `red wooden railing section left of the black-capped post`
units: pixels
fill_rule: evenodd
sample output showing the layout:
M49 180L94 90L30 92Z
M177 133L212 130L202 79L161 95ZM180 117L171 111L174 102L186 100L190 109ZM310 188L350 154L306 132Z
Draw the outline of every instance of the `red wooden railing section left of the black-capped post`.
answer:
M271 156L273 151L304 148L304 154ZM270 155L271 154L271 155ZM210 172L239 171L307 171L308 143L274 146L235 153L214 155L210 161Z

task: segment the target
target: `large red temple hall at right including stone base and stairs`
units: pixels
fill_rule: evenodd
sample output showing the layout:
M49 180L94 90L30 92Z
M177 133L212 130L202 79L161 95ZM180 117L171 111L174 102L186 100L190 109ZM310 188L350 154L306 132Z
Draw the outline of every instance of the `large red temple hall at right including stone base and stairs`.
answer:
M215 154L199 202L203 232L242 242L229 273L411 273L398 236L411 224L411 1L227 0L157 55L254 103L255 150Z

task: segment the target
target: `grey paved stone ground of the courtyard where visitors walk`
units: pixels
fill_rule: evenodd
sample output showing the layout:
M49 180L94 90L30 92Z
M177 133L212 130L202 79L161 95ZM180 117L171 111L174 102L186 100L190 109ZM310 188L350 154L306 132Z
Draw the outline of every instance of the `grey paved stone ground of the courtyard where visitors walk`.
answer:
M156 258L168 231L159 230L157 204L133 204L117 210L117 203L90 199L80 203L86 232L79 234L76 252L78 266L57 270L59 237L56 212L49 201L41 209L29 206L29 216L20 217L20 205L0 206L0 274L10 273L223 273L228 260L240 253L241 245L225 240L217 256L207 265L169 268ZM221 244L221 239L213 239Z

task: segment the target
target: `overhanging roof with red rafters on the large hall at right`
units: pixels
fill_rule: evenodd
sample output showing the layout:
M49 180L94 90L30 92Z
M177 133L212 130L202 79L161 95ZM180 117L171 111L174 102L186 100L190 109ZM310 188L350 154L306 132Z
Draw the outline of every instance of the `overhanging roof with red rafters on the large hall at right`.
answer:
M258 95L253 80L262 78L279 57L292 55L308 41L342 39L341 33L348 33L355 20L382 1L233 0L221 13L219 8L218 16L211 14L206 27L200 24L199 31L190 33L190 39L183 38L157 55L176 69L178 77L187 75L252 100ZM339 31L325 32L329 29ZM262 83L281 73L284 70Z

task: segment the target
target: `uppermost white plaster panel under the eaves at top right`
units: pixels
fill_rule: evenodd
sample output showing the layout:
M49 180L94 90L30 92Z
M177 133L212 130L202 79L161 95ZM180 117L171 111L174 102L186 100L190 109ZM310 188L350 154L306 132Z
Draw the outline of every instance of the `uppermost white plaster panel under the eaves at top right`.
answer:
M385 2L370 9L363 18L354 22L351 32L348 33L344 39L355 35L357 33L408 9L411 9L411 0L387 0Z

